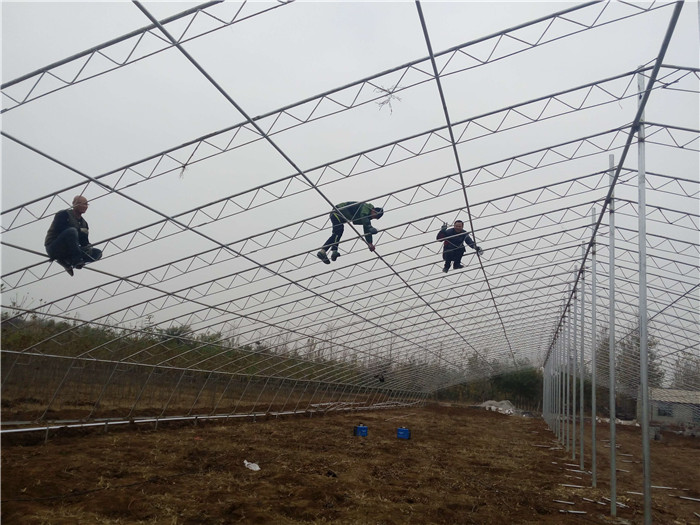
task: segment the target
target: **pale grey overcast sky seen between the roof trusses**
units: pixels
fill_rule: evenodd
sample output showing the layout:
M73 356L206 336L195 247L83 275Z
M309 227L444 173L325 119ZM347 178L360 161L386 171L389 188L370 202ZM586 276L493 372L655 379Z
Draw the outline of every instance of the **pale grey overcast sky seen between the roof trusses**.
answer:
M144 2L143 5L153 16L163 19L196 4ZM84 183L86 179L81 174L99 177L204 135L245 122L246 115L256 117L274 113L285 106L315 98L321 93L428 56L414 2L295 2L267 10L274 5L261 2L248 4L238 16L258 14L185 44L188 53L235 101L242 112L175 48L6 111L2 115L3 131L37 151L31 151L3 137L3 210L52 194L70 201L74 194L83 192L91 201L86 214L90 223L91 240L99 246L105 239L161 221L164 216L173 217L218 199L294 175L295 167L314 182L322 180L322 193L305 191L244 214L212 221L206 226L195 228L195 232L184 232L157 242L135 241L143 243L136 250L122 253L114 245L105 250L105 259L99 263L99 268L116 276L155 268L194 253L215 249L222 244L234 243L236 249L240 248L249 255L249 258L238 258L224 265L212 264L211 267L187 273L160 286L171 291L226 276L239 269L255 267L257 264L266 265L286 256L301 256L306 252L311 254L306 267L287 274L292 280L308 279L309 276L327 271L328 268L313 257L313 253L325 240L327 231L319 231L288 244L259 251L251 250L250 245L244 247L241 241L258 234L269 235L267 232L278 227L325 215L329 211L326 198L332 203L367 200L376 205L394 206L395 213L387 213L377 223L377 227L387 230L412 221L432 220L432 217L435 217L436 225L442 221L452 222L458 216L466 220L461 191L425 203L416 202L407 207L399 206L398 203L404 197L406 201L402 202L411 202L415 198L411 197L411 191L402 193L401 190L456 173L455 156L450 148L410 162L388 166L378 172L332 183L333 177L316 169L363 150L444 126L445 113L434 82L419 83L397 92L392 97L391 104L372 102L319 119L273 135L274 145L258 140L209 160L194 163L184 172L175 170L133 187L127 187L126 184L131 178L134 181L138 179L133 173L117 172L103 180L112 187L122 188L121 195L95 184L66 189ZM421 4L435 54L453 46L476 42L574 5L577 4L466 1ZM209 12L221 19L231 20L241 6L238 2L226 2L210 8ZM559 20L558 25L552 27L547 33L547 40L556 39L554 42L484 67L445 76L443 89L451 122L653 64L667 31L672 12L670 5L629 20L601 24L593 30L557 39L559 35L568 34L576 23L590 24L597 16L612 20L634 12L632 7L619 3L610 4L602 15L600 7L581 10L572 14L568 21ZM698 67L699 20L697 2L687 2L664 63ZM3 83L148 24L149 20L130 2L4 1ZM206 17L198 18L196 24L201 24L202 28L207 24L216 26L215 22L207 21ZM196 24L188 30L201 33L203 30L200 31ZM182 23L166 27L173 33L185 28ZM542 31L543 25L538 25L523 28L517 36L530 41ZM498 52L508 54L517 48L517 42L503 42L501 46ZM145 55L162 47L162 40L147 35L140 44L138 53ZM133 48L134 42L131 40L105 50L105 55L119 61ZM449 63L442 58L438 60L438 67L458 71L474 58L485 59L492 49L493 39L475 44L469 48L471 58L456 55ZM86 70L99 70L100 61L106 61L107 58L96 56L93 60L87 65L84 61L69 62L56 73L68 78L78 74L83 66ZM397 75L381 77L374 88L365 86L359 96L369 97L381 88L392 89L399 81L400 86L417 81L421 75L426 75L427 78L432 73L430 67L429 62L423 62L420 68L424 72L418 68L409 71L402 78ZM629 79L625 79L616 86L624 88L628 83ZM697 88L697 76L695 87ZM20 85L8 88L7 92L16 93L26 89L25 84L25 87ZM354 95L355 92L342 91L337 100L348 103ZM324 103L330 104L328 100ZM483 164L623 126L634 117L636 104L636 99L632 97L582 112L581 115L543 122L538 124L535 131L524 128L527 131L504 132L480 141L464 143L458 148L462 170L467 172ZM7 107L8 99L4 96L3 108ZM312 105L305 105L294 111L302 116L311 110ZM698 113L697 93L660 91L652 95L646 119L697 130L700 127ZM260 125L265 128L271 126L272 121L263 120ZM230 137L224 135L219 140L226 143ZM669 152L668 149L650 146L647 169L697 180L697 153ZM185 153L179 152L178 160L184 158L184 155ZM627 165L634 168L634 155L628 159ZM140 166L139 169L146 171L152 167ZM467 193L477 216L481 216L479 214L485 209L486 203L498 197L556 184L606 168L607 155L599 155L590 160L568 163L562 168L542 170L537 177L518 178L502 184L475 184ZM294 183L300 188L304 187L300 177ZM393 194L393 200L389 194ZM692 209L693 200L674 202L664 201L668 198L665 196L658 198L661 199L659 205L683 206L690 208L685 211L697 212L697 209ZM554 208L562 206L562 203L561 200L552 201L545 206ZM567 203L575 204L572 200ZM43 238L51 216L63 207L65 206L60 200L42 199L31 208L32 213L44 217L42 220L32 222L23 217L20 222L30 224L4 233L5 243L23 247L27 251L3 246L3 275L44 260L40 255L29 251L43 253ZM455 211L459 208L462 211ZM537 213L541 212L542 208L538 207ZM9 227L10 216L14 218L14 214L3 215L3 230ZM477 239L480 235L485 235L479 232L484 232L497 220L497 213L484 212L482 220L476 221L474 225ZM315 224L320 228L324 222L325 216ZM346 235L349 238L352 232L347 231ZM395 231L394 235L393 240L380 236L378 245L381 247L384 240L387 250L389 246L391 250L404 250L434 238L434 232L411 237L410 232L403 229ZM690 233L686 231L679 235L690 236L692 239L692 228ZM349 246L346 248L350 249ZM435 267L438 268L439 246L434 245L431 249L435 252ZM357 244L353 253L347 254L341 263L346 262L351 266L371 260L371 257L366 249ZM7 306L11 300L24 300L27 306L37 307L41 301L53 301L73 294L79 296L83 290L110 280L108 276L88 270L79 272L71 279L58 270L60 269L54 264L48 274L50 277L4 294L3 305ZM46 271L46 265L37 271ZM465 275L469 278L479 277L478 272ZM412 277L407 277L410 278ZM277 276L274 282L282 284L284 279ZM307 285L311 286L309 283ZM262 283L260 286L264 288L268 285ZM235 297L236 293L240 292L232 292L227 297ZM85 320L97 318L153 294L152 291L134 290L119 300L104 301L91 308L73 312L72 315L80 315ZM216 304L222 300L218 296L212 298L211 302Z

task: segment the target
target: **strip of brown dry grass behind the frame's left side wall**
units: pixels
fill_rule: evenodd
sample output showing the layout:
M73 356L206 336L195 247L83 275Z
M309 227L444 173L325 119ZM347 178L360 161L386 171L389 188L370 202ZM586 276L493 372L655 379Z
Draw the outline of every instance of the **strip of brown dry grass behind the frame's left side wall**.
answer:
M133 365L113 373L114 364L100 362L71 369L70 360L36 356L13 366L10 356L3 355L0 369L11 370L2 386L6 422L303 411L310 403L331 400L380 403L390 399L389 393L409 399L400 391L340 383L206 373L185 379L182 371L156 373Z

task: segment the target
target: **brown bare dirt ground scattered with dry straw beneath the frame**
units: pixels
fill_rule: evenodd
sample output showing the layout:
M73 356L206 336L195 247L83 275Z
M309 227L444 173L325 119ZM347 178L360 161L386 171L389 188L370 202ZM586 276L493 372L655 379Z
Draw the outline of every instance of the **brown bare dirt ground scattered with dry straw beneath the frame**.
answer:
M367 437L352 435L360 422ZM397 439L397 427L411 439ZM594 489L541 419L467 407L137 425L46 443L11 434L2 442L2 523L643 523L643 498L633 494L642 492L639 429L617 430L625 506L616 518L604 499L607 425L598 436ZM665 433L651 445L652 485L667 487L652 490L653 522L700 523L700 439ZM590 443L584 459L590 471Z

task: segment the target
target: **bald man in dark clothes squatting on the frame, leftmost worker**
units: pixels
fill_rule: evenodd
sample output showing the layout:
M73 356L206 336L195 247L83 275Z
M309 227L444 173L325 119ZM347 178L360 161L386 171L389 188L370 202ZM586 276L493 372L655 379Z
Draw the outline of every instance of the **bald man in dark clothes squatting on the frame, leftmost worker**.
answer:
M72 208L61 210L54 215L44 239L49 258L63 266L71 276L74 268L80 269L102 257L102 251L93 248L88 238L90 231L87 221L83 218L87 208L87 199L76 195Z

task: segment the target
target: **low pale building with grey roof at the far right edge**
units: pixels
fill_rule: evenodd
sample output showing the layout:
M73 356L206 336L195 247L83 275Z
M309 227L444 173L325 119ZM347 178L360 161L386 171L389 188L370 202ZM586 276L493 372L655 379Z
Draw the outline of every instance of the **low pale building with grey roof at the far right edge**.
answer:
M700 427L700 391L673 388L650 388L651 423ZM637 399L637 421L641 420L642 403Z

